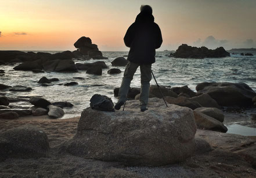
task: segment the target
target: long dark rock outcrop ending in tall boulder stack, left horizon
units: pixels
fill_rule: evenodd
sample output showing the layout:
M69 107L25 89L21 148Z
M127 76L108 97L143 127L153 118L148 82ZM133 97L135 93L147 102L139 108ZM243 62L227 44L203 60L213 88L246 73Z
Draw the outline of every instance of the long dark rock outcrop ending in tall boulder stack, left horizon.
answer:
M63 51L61 53L24 53L22 51L0 51L0 65L22 62L15 66L16 71L33 71L39 72L77 72L77 68L72 61L75 57L84 57L84 60L107 59L102 56L96 44L92 44L90 38L82 36L74 46L78 48L73 53L71 51ZM44 70L44 71L42 71Z

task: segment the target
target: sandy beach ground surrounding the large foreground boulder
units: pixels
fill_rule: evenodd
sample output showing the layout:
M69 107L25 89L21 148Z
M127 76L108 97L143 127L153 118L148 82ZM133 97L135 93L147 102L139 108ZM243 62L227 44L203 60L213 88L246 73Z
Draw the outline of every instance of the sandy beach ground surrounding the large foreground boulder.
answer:
M49 139L46 158L13 159L0 162L0 177L255 177L255 137L197 130L196 154L179 164L160 167L128 167L118 162L104 162L59 154L58 144L71 139L80 117L49 120L46 116L0 120L0 132L30 124L42 129ZM234 142L236 140L236 142ZM244 156L244 151L250 156Z

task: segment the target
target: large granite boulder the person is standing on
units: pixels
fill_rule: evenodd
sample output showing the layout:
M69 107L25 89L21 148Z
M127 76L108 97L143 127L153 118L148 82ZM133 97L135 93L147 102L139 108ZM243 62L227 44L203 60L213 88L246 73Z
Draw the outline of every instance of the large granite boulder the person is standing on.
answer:
M193 111L187 107L166 107L153 98L149 110L140 112L138 101L127 101L125 112L86 108L74 138L59 151L131 166L161 166L192 156L195 133Z

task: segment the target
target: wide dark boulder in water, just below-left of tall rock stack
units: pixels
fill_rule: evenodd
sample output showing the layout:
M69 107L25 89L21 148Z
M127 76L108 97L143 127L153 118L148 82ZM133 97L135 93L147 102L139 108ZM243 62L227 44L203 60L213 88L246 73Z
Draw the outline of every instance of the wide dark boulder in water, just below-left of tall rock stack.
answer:
M72 60L53 60L43 64L46 72L77 72L75 63Z

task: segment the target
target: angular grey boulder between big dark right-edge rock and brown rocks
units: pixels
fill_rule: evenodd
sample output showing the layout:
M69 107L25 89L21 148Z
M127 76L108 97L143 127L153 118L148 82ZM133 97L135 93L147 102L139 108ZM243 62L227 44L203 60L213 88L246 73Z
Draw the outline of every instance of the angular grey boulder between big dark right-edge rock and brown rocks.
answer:
M203 107L216 107L218 109L221 109L221 106L219 106L218 103L206 93L198 95L196 97L192 97L190 98L190 101L196 101Z

